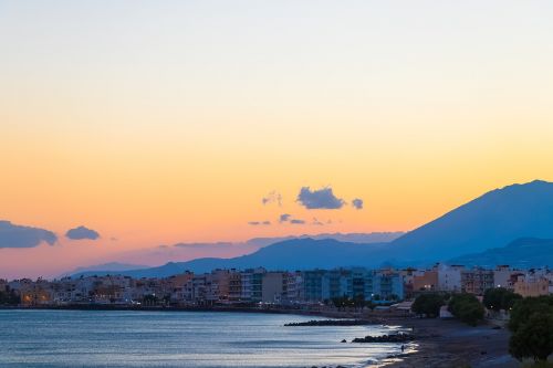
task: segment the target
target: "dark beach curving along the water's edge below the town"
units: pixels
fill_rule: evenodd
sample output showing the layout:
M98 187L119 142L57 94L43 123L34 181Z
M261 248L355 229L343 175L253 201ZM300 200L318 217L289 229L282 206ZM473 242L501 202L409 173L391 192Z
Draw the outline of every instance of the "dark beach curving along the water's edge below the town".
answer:
M468 326L457 319L418 318L413 315L393 313L371 313L368 311L307 311L299 308L259 307L146 307L112 305L63 305L63 306L0 306L1 309L20 311L133 311L133 312L210 312L210 313L255 313L289 314L326 317L336 319L363 319L368 324L400 326L410 329L414 350L390 355L368 367L471 367L471 368L515 368L519 362L508 353L510 333L492 324ZM312 328L316 328L313 326ZM359 336L362 337L362 336ZM410 348L409 348L410 350Z

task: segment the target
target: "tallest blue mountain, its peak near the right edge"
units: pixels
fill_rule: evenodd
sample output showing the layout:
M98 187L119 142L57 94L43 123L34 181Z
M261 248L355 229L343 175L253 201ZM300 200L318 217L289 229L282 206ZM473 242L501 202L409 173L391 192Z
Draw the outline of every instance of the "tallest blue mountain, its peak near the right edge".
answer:
M553 183L535 180L497 189L390 243L401 263L449 260L519 238L553 239Z

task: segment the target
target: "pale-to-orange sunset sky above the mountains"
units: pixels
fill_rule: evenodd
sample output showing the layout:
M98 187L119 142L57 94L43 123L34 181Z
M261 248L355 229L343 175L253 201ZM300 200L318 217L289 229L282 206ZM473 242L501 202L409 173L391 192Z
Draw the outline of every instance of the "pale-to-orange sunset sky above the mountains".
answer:
M0 277L408 231L553 181L552 19L551 1L0 0L0 220L58 236L0 242Z

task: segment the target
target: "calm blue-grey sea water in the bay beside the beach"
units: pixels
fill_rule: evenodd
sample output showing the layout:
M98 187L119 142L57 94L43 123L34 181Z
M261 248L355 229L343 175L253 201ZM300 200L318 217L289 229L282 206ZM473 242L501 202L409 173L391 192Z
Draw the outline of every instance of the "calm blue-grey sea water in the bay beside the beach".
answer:
M283 327L313 317L202 312L0 311L0 367L366 367L396 327Z

